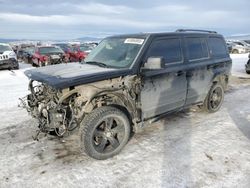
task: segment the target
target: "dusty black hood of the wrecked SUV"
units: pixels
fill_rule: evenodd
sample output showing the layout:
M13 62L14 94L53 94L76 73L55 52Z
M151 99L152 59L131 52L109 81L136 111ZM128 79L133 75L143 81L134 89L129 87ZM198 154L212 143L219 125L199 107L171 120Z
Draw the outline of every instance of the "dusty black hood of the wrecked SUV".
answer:
M128 69L102 68L95 65L67 63L34 68L24 72L31 80L46 83L56 89L126 76Z

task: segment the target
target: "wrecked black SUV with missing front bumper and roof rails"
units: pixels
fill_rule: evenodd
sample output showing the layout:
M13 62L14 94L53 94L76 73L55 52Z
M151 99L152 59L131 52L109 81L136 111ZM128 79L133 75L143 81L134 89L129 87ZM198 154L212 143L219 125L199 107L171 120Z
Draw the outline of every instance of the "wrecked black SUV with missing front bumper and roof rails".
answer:
M74 129L95 159L118 154L132 132L190 105L216 112L232 60L222 35L203 30L105 38L84 62L28 70L28 112L39 132ZM77 128L77 129L76 129Z

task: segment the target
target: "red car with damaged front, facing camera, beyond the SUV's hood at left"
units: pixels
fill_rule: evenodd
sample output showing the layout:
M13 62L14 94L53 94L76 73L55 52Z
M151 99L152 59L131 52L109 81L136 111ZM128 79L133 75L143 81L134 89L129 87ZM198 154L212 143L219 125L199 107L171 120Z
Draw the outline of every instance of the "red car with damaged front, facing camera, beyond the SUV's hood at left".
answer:
M35 49L32 61L33 65L39 67L67 63L68 55L57 46L38 46Z

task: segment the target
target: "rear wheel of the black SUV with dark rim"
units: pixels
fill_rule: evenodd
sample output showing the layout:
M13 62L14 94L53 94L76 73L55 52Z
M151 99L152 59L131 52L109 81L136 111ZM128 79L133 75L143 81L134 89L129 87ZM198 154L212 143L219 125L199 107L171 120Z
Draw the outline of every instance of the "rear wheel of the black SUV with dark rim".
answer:
M209 112L217 112L224 101L224 89L220 83L214 84L204 101L203 108Z

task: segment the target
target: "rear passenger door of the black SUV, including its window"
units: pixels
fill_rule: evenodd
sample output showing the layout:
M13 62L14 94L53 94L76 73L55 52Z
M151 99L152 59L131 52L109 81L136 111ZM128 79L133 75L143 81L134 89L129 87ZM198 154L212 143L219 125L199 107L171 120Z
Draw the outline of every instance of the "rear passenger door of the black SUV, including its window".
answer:
M187 99L186 105L195 104L205 99L213 72L208 69L211 64L207 39L205 37L185 37L187 62Z

